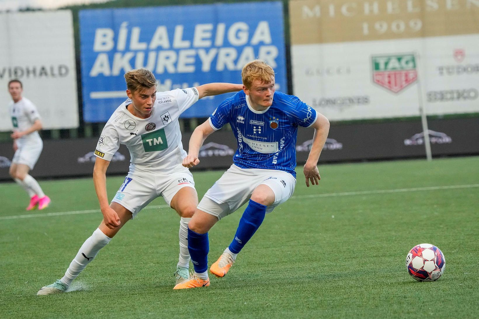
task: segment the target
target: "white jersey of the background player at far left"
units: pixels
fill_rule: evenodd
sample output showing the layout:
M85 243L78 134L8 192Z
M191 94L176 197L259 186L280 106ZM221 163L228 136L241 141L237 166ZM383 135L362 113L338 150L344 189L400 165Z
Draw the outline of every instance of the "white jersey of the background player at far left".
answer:
M12 101L9 105L9 109L11 124L15 131L25 131L30 128L36 120L40 119L40 114L38 114L35 104L24 97L17 103ZM18 147L30 142L41 142L38 131L34 131L17 139Z

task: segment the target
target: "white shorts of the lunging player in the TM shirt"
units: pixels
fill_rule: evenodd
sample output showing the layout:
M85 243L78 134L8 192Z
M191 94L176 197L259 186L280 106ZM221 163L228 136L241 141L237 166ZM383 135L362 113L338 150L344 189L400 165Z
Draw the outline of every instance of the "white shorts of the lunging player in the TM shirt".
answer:
M112 202L128 209L133 219L157 197L163 196L166 203L171 205L171 199L183 187L194 189L194 180L191 172L181 165L167 174L136 168L135 171L128 172Z

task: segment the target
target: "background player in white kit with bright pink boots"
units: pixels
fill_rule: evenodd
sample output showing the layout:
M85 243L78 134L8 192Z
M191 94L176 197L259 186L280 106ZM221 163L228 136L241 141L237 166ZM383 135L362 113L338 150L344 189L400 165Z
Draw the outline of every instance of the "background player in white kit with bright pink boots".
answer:
M50 198L45 195L38 182L28 174L33 170L43 142L38 134L42 129L40 114L34 103L22 96L23 85L19 80L8 82L8 91L12 102L9 105L11 123L13 125L13 149L15 154L11 160L10 176L30 196L30 204L26 210L44 209L50 204Z

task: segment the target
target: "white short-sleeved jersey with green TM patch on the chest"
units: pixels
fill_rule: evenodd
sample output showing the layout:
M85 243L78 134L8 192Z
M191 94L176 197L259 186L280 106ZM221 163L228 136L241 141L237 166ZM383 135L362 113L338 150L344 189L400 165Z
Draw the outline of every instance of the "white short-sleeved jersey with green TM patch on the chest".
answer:
M95 156L111 160L124 144L130 151L130 170L138 166L171 170L186 157L178 118L196 101L195 88L157 92L150 116L142 119L126 109L132 103L126 100L103 128Z

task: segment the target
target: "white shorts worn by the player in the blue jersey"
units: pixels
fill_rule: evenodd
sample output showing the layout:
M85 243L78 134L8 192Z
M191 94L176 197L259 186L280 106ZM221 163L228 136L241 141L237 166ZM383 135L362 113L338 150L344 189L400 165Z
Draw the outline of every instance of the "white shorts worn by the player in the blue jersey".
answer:
M260 184L267 185L274 192L274 203L266 208L266 213L271 213L293 195L296 178L285 171L242 169L233 164L206 192L198 209L217 216L219 220L248 202Z

